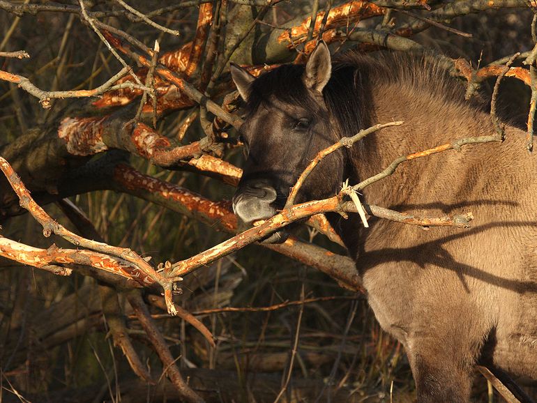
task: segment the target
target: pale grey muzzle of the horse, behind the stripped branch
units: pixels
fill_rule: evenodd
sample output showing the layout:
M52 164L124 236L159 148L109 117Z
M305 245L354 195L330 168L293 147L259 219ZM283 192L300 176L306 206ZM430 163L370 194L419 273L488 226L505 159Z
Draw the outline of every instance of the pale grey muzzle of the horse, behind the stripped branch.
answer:
M278 193L269 184L264 182L241 185L233 197L233 211L239 218L239 230L254 226L259 220L268 220L275 215L273 206ZM273 232L260 241L261 243L283 243L289 237L285 229Z

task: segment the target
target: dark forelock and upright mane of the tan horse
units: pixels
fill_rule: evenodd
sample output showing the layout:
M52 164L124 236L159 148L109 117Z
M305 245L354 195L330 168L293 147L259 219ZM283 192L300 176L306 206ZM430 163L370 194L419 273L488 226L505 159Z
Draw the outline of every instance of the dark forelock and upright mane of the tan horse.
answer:
M288 64L259 76L250 88L247 112L254 112L271 97L315 110L315 100L301 79L303 72L303 65ZM431 54L381 52L372 57L345 52L333 59L331 79L323 90L328 112L341 136L355 135L371 125L374 85L395 85L397 91L407 91L411 96L437 94L446 103L464 100L464 86L449 78L441 62ZM474 102L474 107L481 106Z

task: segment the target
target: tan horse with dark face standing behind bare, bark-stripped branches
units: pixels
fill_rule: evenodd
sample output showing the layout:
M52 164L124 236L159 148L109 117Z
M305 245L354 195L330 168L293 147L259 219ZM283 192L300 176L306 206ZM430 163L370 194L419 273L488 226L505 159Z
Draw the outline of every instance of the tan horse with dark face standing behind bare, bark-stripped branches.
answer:
M332 60L321 41L305 65L257 78L232 65L248 155L232 200L239 220L273 216L319 151L374 124L404 121L324 158L297 203L331 197L400 155L493 134L490 115L430 56L351 51ZM537 380L537 158L522 130L504 133L504 142L406 162L361 195L402 212L469 210L471 229L375 217L364 228L357 214L327 214L377 321L404 346L419 403L468 402L476 365ZM266 242L285 238L280 230Z

